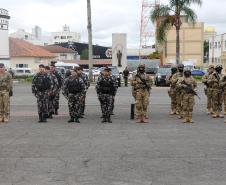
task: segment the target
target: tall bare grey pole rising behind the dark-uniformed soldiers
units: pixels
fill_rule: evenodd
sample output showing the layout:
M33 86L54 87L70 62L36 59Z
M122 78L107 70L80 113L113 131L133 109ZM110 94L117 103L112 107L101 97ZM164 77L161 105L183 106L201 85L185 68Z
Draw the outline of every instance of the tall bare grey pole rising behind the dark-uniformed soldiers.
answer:
M87 0L87 19L88 19L88 41L89 41L89 80L93 81L93 43L92 43L92 21L91 21L91 3Z

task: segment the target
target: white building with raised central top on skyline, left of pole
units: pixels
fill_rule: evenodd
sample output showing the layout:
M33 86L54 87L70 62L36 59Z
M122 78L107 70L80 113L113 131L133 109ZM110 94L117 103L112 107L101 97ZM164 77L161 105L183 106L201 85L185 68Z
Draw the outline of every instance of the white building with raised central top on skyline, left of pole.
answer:
M62 32L52 33L52 44L58 44L62 42L80 42L81 34L77 32L71 32L69 26L64 25Z

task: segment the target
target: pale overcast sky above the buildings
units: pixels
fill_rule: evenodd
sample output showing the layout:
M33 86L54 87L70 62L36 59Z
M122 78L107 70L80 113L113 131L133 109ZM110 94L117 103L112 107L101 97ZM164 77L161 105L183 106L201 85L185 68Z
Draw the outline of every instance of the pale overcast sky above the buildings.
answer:
M205 27L214 26L219 34L225 33L226 0L202 1L201 7L193 7L198 21ZM91 0L93 43L111 46L112 33L127 33L128 47L138 47L141 5L142 0ZM19 28L31 32L38 25L43 34L49 34L67 24L71 31L81 33L82 42L87 42L86 0L0 0L0 8L9 11L10 33Z

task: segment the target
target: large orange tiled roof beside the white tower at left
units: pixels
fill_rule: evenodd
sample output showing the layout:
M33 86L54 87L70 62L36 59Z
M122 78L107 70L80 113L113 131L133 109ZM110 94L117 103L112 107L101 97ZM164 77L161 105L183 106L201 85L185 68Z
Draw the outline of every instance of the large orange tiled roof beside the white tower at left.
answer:
M9 38L10 57L41 57L41 58L54 58L55 54L31 44L30 42Z

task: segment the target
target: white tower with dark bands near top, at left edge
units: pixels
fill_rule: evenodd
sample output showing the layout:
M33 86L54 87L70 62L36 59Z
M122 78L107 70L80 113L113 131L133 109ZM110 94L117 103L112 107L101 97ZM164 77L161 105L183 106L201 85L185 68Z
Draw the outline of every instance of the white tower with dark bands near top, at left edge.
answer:
M9 19L8 11L0 8L0 63L10 66L9 57Z

